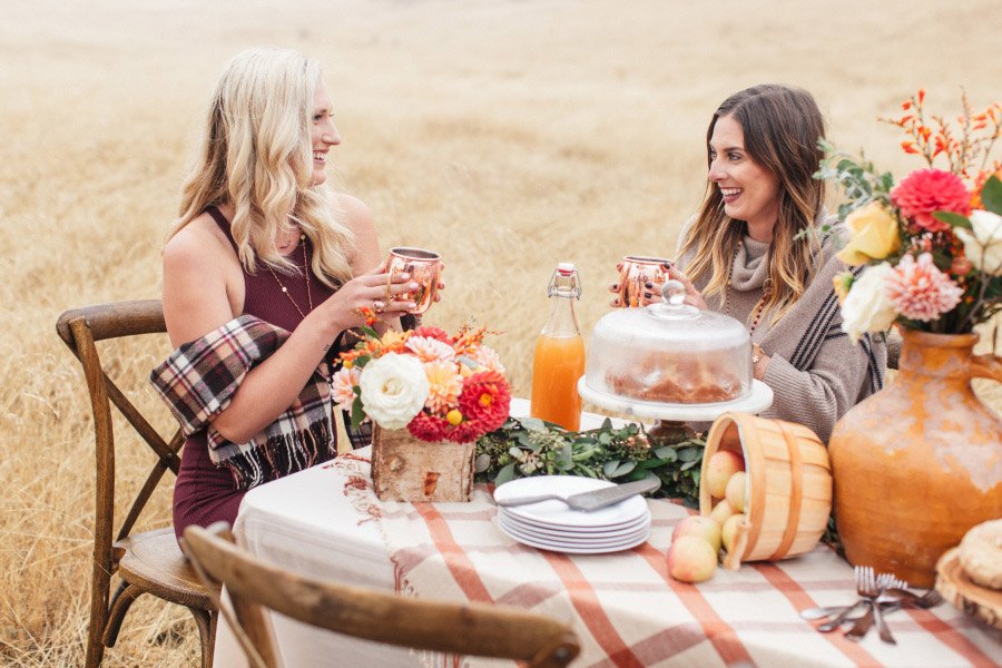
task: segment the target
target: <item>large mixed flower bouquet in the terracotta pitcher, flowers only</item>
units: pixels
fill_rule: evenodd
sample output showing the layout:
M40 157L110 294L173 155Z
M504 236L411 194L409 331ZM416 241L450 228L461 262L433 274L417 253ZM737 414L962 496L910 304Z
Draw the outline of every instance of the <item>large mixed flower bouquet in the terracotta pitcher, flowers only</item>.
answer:
M1002 166L990 156L1000 135L998 102L964 114L954 130L942 116L926 121L924 91L902 104L892 122L908 135L916 169L895 185L871 163L833 153L818 173L843 186L839 207L851 230L838 258L855 267L836 277L843 330L858 341L866 332L905 330L970 333L1002 308ZM945 163L945 169L936 161Z

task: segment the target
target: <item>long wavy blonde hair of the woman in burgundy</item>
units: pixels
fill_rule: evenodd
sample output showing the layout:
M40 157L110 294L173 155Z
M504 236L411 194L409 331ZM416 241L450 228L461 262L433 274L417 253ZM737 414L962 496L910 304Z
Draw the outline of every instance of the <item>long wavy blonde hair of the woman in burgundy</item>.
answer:
M333 193L313 185L314 94L321 68L301 53L254 48L216 82L200 149L181 187L177 234L210 206L232 204L237 255L253 274L261 259L294 273L275 237L298 225L313 244L312 267L331 287L352 277L354 236Z

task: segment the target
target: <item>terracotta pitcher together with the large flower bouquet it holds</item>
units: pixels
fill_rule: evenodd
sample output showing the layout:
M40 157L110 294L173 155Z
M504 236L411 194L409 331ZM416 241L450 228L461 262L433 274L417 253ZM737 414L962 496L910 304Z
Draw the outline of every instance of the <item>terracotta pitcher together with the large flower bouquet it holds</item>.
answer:
M926 121L924 97L890 119L924 168L895 184L835 156L821 176L847 197L838 257L854 271L835 282L842 328L858 340L894 323L903 338L893 382L843 415L828 442L838 536L849 562L930 587L943 552L1002 508L1002 421L971 387L1002 382L1002 357L973 353L974 327L1002 308L1002 170L990 163L1002 108L973 114L964 97L957 131Z

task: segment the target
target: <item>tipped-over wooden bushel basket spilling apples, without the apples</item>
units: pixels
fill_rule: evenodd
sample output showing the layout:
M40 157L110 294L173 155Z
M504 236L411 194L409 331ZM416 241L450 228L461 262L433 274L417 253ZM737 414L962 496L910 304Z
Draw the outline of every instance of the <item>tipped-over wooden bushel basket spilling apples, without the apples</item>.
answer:
M703 515L714 504L703 481L718 450L739 453L748 475L745 519L738 523L724 567L735 570L743 561L775 561L814 549L832 512L828 451L814 432L802 424L747 413L717 418L703 455Z

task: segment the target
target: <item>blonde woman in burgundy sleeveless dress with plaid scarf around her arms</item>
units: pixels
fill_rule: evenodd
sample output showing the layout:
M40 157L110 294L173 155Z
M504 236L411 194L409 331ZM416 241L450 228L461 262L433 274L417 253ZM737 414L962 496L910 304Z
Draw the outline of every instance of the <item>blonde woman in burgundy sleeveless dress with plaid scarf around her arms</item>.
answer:
M164 249L177 351L153 374L187 440L174 527L233 522L245 491L336 454L328 361L361 310L395 322L416 287L380 264L365 205L326 187L341 144L320 67L235 57L209 104Z

